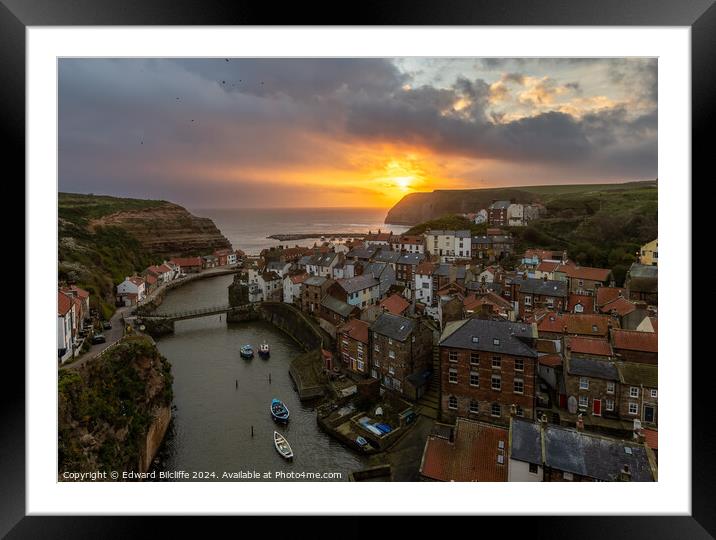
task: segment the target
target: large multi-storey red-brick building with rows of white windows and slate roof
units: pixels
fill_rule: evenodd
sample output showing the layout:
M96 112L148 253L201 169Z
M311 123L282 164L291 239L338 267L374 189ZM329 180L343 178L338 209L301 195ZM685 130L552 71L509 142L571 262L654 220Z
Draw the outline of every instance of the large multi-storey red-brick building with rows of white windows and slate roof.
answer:
M440 336L440 413L506 424L510 408L535 418L537 330L534 325L467 319Z

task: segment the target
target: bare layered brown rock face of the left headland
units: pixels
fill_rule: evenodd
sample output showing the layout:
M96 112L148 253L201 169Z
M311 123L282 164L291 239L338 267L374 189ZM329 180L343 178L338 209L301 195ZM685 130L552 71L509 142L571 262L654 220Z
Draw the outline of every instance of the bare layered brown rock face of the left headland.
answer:
M106 226L124 229L139 240L144 249L158 257L203 255L215 249L231 249L231 243L211 219L195 216L172 203L119 211L89 223L92 230Z

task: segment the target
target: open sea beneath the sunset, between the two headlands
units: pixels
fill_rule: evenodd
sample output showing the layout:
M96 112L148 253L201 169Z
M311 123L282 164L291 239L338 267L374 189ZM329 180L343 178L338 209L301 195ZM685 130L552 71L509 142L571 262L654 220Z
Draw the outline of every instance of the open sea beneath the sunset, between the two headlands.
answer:
M385 223L386 208L192 208L200 217L211 218L234 249L258 255L272 246L312 246L325 235L392 231L401 234L410 227ZM272 234L316 233L316 237L280 242Z

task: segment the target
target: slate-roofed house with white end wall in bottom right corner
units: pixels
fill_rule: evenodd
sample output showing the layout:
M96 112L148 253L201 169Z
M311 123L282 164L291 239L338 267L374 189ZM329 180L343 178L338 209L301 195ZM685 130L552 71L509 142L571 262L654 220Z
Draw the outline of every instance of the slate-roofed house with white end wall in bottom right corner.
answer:
M548 424L510 422L510 482L654 482L654 455L644 443ZM575 459L579 456L579 459Z

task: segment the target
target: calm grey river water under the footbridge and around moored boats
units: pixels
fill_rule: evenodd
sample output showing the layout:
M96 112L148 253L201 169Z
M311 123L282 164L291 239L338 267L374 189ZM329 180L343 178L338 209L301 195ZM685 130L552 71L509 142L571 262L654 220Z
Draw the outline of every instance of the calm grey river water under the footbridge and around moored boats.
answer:
M187 284L171 291L162 309L225 304L231 280L232 276L221 276ZM256 349L264 339L271 345L269 360L239 356L241 345L250 343ZM347 480L349 472L366 466L364 457L320 431L313 407L300 402L288 375L289 362L300 349L272 325L227 326L223 316L222 321L219 316L178 321L175 333L157 340L157 346L172 364L176 406L157 471L214 472L216 480L223 472L305 471L342 473L336 480ZM270 417L274 397L291 412L285 427ZM291 444L293 462L276 452L274 430Z

